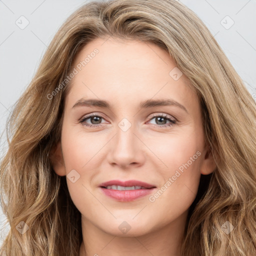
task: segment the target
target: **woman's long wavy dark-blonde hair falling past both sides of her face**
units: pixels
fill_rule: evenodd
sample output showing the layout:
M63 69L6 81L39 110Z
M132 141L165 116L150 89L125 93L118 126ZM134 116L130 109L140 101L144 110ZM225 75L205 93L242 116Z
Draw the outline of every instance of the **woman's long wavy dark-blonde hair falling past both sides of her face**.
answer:
M207 27L176 0L89 2L57 31L7 122L0 198L10 230L0 255L78 255L80 213L50 162L68 83L47 95L86 43L107 36L165 49L199 96L217 167L187 219L182 256L256 255L255 102ZM23 234L16 228L21 221L29 227Z

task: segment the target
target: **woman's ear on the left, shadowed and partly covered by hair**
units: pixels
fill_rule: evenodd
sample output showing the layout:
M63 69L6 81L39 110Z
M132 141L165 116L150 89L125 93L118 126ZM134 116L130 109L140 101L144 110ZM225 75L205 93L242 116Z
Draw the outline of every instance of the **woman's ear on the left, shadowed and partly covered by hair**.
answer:
M59 176L64 176L66 174L60 141L51 148L50 161L56 174Z

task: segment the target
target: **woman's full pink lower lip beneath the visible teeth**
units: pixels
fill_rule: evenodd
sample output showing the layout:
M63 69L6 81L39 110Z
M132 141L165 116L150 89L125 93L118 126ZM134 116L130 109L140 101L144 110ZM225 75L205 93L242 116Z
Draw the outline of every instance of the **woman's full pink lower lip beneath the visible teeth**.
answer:
M145 189L134 189L134 190L116 190L116 189L107 189L100 187L103 193L111 198L116 199L117 201L133 201L137 198L150 194L155 187L145 188Z

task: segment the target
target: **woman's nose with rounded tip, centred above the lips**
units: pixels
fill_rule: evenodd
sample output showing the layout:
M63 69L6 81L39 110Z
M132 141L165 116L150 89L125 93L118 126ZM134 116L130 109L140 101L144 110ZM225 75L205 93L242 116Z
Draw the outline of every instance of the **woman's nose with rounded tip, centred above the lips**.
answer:
M117 165L122 169L129 167L140 166L145 161L146 146L139 138L139 135L134 133L131 126L124 131L117 126L116 134L111 139L107 160L111 165ZM138 133L138 132L136 132Z

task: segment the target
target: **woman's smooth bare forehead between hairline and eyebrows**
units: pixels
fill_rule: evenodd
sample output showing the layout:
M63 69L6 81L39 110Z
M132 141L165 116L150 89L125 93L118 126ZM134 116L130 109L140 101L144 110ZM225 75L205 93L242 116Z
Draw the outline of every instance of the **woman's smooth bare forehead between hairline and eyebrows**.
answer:
M73 68L77 73L67 95L72 102L93 96L120 102L128 99L130 104L157 97L184 103L195 97L184 75L178 80L171 76L177 67L169 53L151 42L97 38L80 50Z

